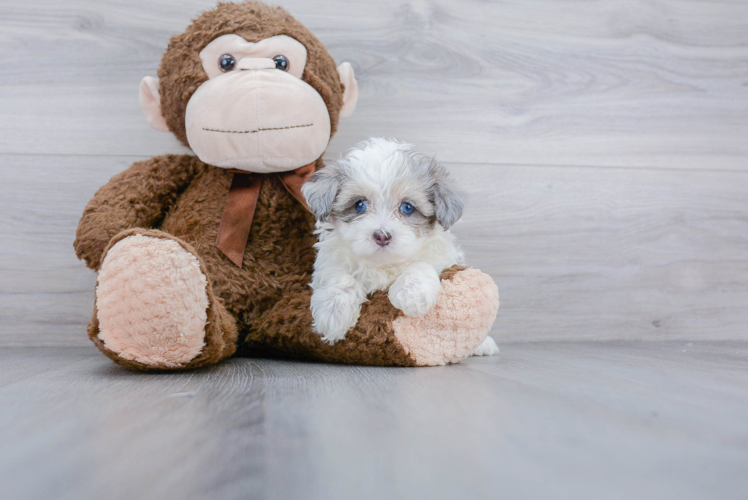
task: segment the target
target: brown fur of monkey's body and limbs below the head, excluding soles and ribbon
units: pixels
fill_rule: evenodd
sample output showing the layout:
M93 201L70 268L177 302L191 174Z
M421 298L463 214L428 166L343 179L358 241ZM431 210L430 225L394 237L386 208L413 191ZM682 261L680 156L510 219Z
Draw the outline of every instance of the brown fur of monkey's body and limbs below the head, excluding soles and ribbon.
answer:
M239 339L246 342L244 353L413 365L392 332L392 320L401 313L384 292L364 305L361 321L346 340L329 346L312 332L308 283L316 241L314 218L277 177L266 177L260 191L244 265L235 266L216 248L231 175L193 156L160 156L135 163L112 178L86 207L75 241L78 255L98 269L114 243L141 233L173 239L198 257L210 283L206 347L179 368L212 364L230 356L236 348L237 331ZM117 363L154 369L106 349L98 338L96 314L89 336Z

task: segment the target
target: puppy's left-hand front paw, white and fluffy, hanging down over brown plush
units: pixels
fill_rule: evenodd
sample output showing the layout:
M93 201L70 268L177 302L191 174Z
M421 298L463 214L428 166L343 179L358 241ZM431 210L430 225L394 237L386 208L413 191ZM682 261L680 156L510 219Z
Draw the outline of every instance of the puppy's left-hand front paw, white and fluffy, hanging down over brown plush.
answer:
M326 344L343 340L356 325L361 304L355 293L347 290L321 288L312 294L312 329Z

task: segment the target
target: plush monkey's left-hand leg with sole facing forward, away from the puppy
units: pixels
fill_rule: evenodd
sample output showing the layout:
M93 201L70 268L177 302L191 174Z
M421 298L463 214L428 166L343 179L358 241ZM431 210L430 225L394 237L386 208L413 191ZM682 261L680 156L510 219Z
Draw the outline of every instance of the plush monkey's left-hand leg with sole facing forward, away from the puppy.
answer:
M195 368L236 349L236 325L186 243L156 230L115 236L97 279L89 336L119 364Z

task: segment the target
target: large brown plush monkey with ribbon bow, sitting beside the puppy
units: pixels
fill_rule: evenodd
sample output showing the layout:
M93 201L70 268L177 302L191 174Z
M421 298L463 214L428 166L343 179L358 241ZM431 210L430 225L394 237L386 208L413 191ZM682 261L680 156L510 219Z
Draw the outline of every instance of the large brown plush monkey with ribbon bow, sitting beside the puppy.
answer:
M498 290L458 266L423 318L377 292L344 341L312 331L316 238L301 186L357 85L287 12L219 3L172 37L158 76L140 87L148 121L196 156L135 163L85 208L75 249L98 271L88 334L105 355L142 370L235 353L422 366L460 361L486 338Z

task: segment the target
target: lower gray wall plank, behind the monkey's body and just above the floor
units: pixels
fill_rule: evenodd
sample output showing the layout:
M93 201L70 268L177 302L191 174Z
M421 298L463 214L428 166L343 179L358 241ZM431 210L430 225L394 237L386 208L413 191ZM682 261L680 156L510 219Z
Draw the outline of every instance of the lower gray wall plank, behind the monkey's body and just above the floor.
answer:
M0 156L0 345L88 342L75 228L132 160ZM748 340L745 173L448 166L472 195L454 231L501 290L497 339Z

